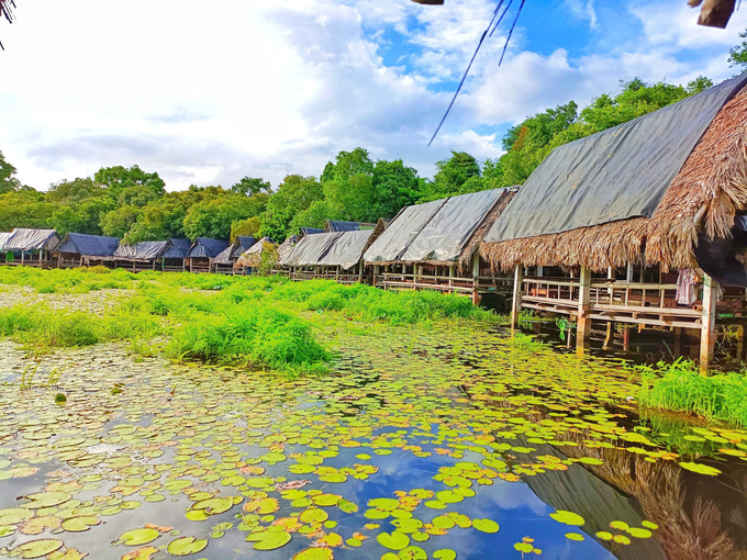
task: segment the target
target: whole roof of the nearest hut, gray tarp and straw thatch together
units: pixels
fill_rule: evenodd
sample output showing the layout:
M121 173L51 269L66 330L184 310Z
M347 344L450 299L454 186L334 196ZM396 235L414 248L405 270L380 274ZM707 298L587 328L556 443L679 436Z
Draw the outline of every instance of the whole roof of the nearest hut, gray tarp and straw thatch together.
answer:
M493 268L694 268L747 209L747 75L556 148L486 236ZM692 146L692 147L691 147Z

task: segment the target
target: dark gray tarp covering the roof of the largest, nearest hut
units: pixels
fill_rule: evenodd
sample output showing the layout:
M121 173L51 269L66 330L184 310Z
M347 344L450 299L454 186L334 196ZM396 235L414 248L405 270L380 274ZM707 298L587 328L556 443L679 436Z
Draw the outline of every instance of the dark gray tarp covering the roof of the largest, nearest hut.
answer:
M747 74L613 128L559 146L534 170L486 242L650 217Z

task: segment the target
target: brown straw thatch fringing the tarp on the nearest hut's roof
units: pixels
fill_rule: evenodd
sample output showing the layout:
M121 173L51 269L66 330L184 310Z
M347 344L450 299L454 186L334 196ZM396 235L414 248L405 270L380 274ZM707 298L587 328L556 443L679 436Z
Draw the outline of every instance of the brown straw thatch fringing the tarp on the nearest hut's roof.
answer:
M665 186L650 217L638 215L546 235L488 239L481 245L480 255L494 270L509 270L517 265L560 265L603 271L627 262L658 264L665 270L698 268L694 248L699 232L710 240L728 238L735 215L747 209L747 88L744 83L745 75L736 82L743 87L716 112L679 171ZM645 116L637 121L642 119ZM647 169L646 155L646 146L642 146L638 161L642 177ZM527 187L522 189L522 195L527 194ZM607 188L614 190L614 184ZM519 195L504 214L512 214L517 200Z

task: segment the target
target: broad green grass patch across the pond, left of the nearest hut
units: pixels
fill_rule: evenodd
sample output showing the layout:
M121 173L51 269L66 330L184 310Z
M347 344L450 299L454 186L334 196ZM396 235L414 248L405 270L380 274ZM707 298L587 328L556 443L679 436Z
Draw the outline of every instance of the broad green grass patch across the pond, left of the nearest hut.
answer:
M0 334L35 355L121 340L141 357L163 352L174 360L243 365L289 376L325 369L334 336L322 344L320 331L374 322L450 328L462 321L500 321L467 298L281 277L19 267L0 268L0 284L59 294L131 290L101 316L38 304L0 310ZM319 318L304 318L309 316Z

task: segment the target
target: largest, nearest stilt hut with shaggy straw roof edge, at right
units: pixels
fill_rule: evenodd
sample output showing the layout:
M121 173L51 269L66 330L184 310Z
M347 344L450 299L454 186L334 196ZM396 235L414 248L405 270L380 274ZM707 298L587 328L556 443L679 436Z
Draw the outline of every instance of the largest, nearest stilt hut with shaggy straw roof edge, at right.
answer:
M514 271L514 326L522 309L569 317L580 350L592 321L605 345L623 325L624 349L631 326L672 331L677 352L688 329L703 367L716 324L736 323L744 339L746 85L726 80L537 167L480 248Z

